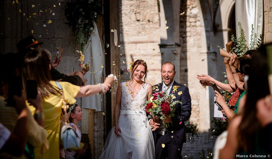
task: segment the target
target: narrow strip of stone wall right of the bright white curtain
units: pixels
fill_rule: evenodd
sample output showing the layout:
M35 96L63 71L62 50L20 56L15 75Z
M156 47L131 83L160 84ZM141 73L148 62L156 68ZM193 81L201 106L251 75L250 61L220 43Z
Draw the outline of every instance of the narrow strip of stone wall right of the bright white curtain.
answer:
M264 0L264 43L272 42L272 0Z

